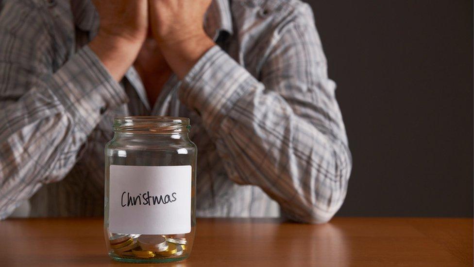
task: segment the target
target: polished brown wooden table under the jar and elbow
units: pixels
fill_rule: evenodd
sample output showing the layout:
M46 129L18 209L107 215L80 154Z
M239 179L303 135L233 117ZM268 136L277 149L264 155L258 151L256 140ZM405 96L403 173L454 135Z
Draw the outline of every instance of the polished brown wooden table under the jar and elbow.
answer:
M101 218L0 221L0 266L106 265L121 263L106 254ZM473 219L198 219L191 256L155 266L400 265L473 266Z

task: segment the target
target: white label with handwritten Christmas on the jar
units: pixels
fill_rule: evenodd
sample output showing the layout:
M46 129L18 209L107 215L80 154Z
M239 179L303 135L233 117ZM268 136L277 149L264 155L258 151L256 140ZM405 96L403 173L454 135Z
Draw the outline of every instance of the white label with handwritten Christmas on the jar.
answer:
M109 231L191 231L191 166L110 165Z

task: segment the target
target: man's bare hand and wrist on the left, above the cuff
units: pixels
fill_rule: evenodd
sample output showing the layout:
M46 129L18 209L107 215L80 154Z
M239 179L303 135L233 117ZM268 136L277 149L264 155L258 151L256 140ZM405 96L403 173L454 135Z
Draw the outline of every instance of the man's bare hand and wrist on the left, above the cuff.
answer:
M89 47L119 81L135 61L148 31L147 0L93 0L101 25Z

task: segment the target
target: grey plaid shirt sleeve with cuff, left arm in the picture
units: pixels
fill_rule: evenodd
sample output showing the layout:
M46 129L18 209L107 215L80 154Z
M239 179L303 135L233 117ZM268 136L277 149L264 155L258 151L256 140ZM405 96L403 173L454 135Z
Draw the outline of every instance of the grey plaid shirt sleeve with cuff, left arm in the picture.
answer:
M66 45L53 43L37 13L17 19L8 8L0 10L0 219L64 178L102 113L127 101L87 46L51 71L51 51Z

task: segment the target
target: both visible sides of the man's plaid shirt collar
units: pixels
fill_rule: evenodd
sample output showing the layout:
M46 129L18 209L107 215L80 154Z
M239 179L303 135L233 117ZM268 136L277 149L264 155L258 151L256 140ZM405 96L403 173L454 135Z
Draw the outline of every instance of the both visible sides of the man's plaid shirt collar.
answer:
M94 32L99 26L99 15L91 0L71 0L76 26L85 32ZM222 32L233 34L229 0L213 0L206 12L204 30L215 40Z

